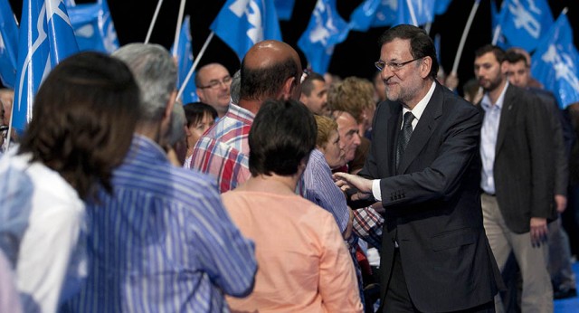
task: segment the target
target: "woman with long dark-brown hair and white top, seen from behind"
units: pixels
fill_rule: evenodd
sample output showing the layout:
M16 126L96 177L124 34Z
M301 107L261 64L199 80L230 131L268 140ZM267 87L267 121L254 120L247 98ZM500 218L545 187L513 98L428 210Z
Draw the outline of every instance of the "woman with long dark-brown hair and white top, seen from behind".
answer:
M138 118L128 67L97 52L58 64L34 99L20 146L0 159L0 248L24 311L54 312L86 275L84 200L111 190Z

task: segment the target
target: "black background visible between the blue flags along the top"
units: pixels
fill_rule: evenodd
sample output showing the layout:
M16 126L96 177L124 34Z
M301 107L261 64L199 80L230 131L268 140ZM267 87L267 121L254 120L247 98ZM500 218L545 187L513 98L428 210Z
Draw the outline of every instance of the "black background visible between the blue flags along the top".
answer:
M473 76L472 63L474 51L480 46L491 42L490 29L490 1L481 0L479 10L475 15L469 37L459 63L460 84ZM77 4L93 3L94 0L77 0ZM308 26L310 15L317 0L296 0L291 20L280 21L283 41L291 44L299 52L302 63L307 61L297 47L299 36ZM346 21L354 9L363 0L337 0L338 13ZM501 0L497 3L500 5ZM549 0L554 18L566 6L569 8L567 16L574 28L574 43L578 46L579 38L579 4L577 0ZM10 0L14 14L20 16L22 1ZM210 33L209 25L221 10L224 0L189 0L185 5L185 14L191 16L193 50L195 57L201 50L205 39ZM165 0L161 6L157 24L151 35L151 43L159 43L169 48L175 39L176 19L180 1ZM460 35L465 27L474 0L453 0L445 14L437 15L432 23L431 35L440 34L441 37L441 65L446 71L451 71L452 63L459 46ZM109 0L110 13L119 36L119 43L144 42L148 26L151 22L157 0ZM358 76L370 78L374 72L374 64L379 57L378 37L385 30L371 28L365 33L350 32L346 41L336 46L329 70L341 77ZM240 66L235 53L217 36L209 44L199 66L208 62L220 62L232 73Z

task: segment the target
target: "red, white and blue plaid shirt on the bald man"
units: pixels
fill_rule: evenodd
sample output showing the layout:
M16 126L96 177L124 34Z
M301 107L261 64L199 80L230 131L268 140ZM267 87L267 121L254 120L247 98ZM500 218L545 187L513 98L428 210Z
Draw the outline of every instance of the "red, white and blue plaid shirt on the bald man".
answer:
M251 176L247 139L254 117L249 110L230 103L227 114L195 144L191 168L217 178L221 193Z

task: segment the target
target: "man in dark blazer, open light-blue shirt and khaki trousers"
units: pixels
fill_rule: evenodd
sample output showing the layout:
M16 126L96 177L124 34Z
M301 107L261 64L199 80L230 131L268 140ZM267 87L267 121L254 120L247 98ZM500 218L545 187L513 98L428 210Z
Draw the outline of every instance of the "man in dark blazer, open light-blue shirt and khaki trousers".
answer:
M547 222L555 213L555 161L549 113L531 92L509 84L505 52L486 45L474 71L485 91L480 156L484 225L501 270L515 254L523 278L523 312L552 312ZM502 310L500 297L496 308Z

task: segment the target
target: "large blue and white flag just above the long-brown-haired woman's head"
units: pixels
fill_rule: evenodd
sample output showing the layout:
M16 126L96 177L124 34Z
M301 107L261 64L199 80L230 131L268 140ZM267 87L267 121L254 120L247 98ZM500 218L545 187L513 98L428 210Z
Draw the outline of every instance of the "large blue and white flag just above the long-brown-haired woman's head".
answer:
M26 0L22 12L12 118L19 133L33 119L33 97L43 78L79 51L63 0Z

